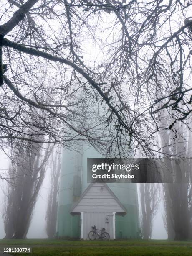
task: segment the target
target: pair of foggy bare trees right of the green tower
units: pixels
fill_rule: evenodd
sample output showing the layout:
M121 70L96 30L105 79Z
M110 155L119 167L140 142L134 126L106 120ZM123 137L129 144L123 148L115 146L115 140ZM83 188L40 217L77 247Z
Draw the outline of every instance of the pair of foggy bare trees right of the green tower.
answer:
M168 121L168 119L167 119ZM190 124L191 125L191 124ZM175 138L175 145L170 146L172 134L159 133L159 143L169 154L187 154L191 148L191 129L177 125L181 136ZM186 138L189 138L187 141ZM166 167L166 168L165 168ZM143 237L149 239L152 234L152 222L157 214L160 198L164 202L164 224L168 239L187 240L192 238L192 162L191 158L163 158L162 168L165 168L169 183L141 184L141 227Z

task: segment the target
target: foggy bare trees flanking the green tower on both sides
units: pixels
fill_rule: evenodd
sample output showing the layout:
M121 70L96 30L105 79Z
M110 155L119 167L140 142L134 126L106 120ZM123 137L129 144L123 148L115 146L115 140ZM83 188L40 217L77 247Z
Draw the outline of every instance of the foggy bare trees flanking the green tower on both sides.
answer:
M182 129L182 127L180 128ZM180 131L181 132L181 131ZM190 142L184 143L184 136L190 137L190 131L181 132L183 136L177 139L176 146L170 149L171 134L160 133L159 143L164 144L164 150L176 154L190 147ZM181 143L182 142L182 143ZM25 144L24 144L25 145ZM179 146L181 145L181 146ZM185 147L183 147L185 145ZM22 144L20 145L23 146ZM23 152L23 150L22 150ZM53 151L50 146L43 148L41 144L28 143L25 154L13 155L13 165L9 169L9 184L5 192L4 223L5 238L26 238L30 226L35 202L42 185L45 169L48 168L48 158L51 159L51 184L47 209L47 234L53 238L56 233L56 216L58 204L58 184L61 170L61 154ZM174 161L173 161L174 160ZM164 223L168 239L184 240L192 236L192 187L190 159L162 159L162 173L169 176L172 184L140 184L141 228L143 238L152 236L152 224L157 214L161 195L164 199ZM160 172L160 171L159 171ZM162 191L161 191L162 190Z

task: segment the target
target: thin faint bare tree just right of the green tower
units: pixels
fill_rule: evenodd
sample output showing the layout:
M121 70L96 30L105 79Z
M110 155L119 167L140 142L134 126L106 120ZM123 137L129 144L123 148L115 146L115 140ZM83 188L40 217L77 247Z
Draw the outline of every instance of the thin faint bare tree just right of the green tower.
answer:
M154 183L140 184L141 230L144 239L151 239L153 218L160 201L160 186Z

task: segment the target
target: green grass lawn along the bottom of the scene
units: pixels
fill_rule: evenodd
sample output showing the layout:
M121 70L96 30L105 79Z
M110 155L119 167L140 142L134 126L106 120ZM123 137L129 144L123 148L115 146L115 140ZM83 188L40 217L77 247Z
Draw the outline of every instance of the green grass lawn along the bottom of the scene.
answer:
M34 256L67 255L174 255L192 256L192 241L167 240L114 240L114 241L68 241L49 239L0 240L0 248L6 246L32 247ZM11 254L11 253L10 253ZM6 255L6 254L5 254ZM24 256L31 254L13 254Z

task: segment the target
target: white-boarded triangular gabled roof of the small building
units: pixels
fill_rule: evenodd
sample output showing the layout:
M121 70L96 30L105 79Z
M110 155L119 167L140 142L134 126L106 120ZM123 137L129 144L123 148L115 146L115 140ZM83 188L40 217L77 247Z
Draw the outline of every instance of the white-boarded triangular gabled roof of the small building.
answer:
M127 210L105 183L91 183L71 209L72 215L80 212L116 212L125 215Z

